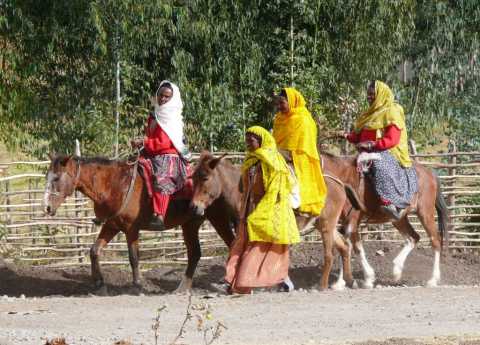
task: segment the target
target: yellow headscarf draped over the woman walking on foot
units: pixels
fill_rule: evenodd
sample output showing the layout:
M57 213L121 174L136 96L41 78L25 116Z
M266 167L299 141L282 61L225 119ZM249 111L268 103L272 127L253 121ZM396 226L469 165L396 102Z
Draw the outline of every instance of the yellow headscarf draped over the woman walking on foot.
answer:
M265 195L247 218L249 241L292 244L300 242L295 215L290 205L292 181L287 163L278 153L275 139L260 126L247 133L257 135L262 143L255 151L247 151L242 172L260 162Z

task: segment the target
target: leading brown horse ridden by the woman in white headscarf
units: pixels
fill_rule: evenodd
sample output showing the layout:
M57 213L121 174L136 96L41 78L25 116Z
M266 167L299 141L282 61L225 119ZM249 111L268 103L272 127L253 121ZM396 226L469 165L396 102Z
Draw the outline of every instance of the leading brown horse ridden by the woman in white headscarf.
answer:
M47 172L44 203L45 212L54 215L65 198L75 190L82 192L94 203L97 219L103 225L90 249L92 277L97 289L105 289L100 271L99 257L108 242L120 231L125 233L132 267L133 283L141 286L139 261L139 231L147 229L152 217L152 202L142 178L136 178L136 164L105 158L78 158L58 156L51 158ZM228 203L217 200L197 216L189 206L190 200L172 200L165 217L165 227L181 226L187 247L188 265L177 292L189 290L201 257L198 231L205 219L214 226L227 246L234 239L233 213Z

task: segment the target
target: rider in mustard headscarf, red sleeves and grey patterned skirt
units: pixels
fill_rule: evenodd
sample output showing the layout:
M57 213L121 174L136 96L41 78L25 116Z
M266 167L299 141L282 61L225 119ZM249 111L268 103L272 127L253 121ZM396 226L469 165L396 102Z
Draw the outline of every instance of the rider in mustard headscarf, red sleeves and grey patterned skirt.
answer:
M393 92L381 81L367 90L370 107L344 137L361 152L376 152L368 172L382 209L395 220L410 205L418 190L417 174L408 154L407 128L403 108L395 103Z

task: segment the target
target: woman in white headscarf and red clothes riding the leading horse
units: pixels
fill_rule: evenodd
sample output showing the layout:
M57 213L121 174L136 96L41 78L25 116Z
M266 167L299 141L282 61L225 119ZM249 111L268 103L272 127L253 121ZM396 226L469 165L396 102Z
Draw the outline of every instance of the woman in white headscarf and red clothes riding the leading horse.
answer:
M152 98L155 107L148 117L145 138L132 140L144 148L153 167L153 225L164 227L171 195L181 190L188 175L188 150L183 142L183 103L178 87L162 81Z

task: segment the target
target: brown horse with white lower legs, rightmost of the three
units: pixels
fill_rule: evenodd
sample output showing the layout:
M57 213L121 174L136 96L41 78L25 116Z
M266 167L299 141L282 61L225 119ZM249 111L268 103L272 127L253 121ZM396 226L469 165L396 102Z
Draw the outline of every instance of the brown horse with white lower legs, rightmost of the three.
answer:
M393 276L395 281L399 281L408 254L420 240L420 236L407 218L407 215L412 213L418 216L431 240L434 251L434 264L432 277L427 285L436 286L440 280L440 251L443 237L447 231L448 208L441 194L439 180L433 171L419 163L414 163L418 177L418 192L414 196L412 204L402 212L402 218L398 221L392 221L392 219L380 209L380 200L368 178L363 178L357 172L355 158L336 157L326 153L323 153L321 158L324 171L337 176L345 183L348 199L354 208L359 210L352 210L352 206L347 203L343 218L346 233L351 236L354 250L360 255L365 287L373 286L375 272L368 263L362 243L360 242L358 234L360 222L362 220L368 224L392 222L393 226L397 228L405 238L403 249L393 260ZM435 210L437 210L438 213L440 234L435 224Z

